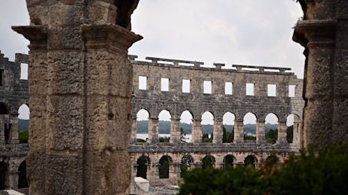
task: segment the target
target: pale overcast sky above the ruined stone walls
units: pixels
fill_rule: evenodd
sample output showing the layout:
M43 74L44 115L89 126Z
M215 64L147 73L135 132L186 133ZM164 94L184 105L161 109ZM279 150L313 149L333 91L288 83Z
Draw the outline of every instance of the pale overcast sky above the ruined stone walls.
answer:
M28 25L29 15L24 0L0 2L0 50L14 60L15 53L28 53L29 42L10 26ZM290 67L303 78L303 47L292 42L292 27L302 15L294 0L141 0L132 31L144 39L129 53L139 60L152 56L207 66Z

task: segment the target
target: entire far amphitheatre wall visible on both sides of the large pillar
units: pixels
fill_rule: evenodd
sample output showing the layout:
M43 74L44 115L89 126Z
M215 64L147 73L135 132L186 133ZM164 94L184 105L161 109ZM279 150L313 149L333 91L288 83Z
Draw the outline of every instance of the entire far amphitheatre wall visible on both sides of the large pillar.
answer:
M302 142L301 119L303 110L303 80L297 78L290 68L256 67L224 64L203 67L203 62L169 60L128 56L133 65L132 87L132 135L128 146L133 166L132 176L139 176L139 159L145 160L145 176L150 184L171 183L176 185L181 177L182 158L187 165L204 167L203 159L209 158L212 166L221 168L226 159L232 166L244 164L246 159L258 167L260 162L276 155L281 162L290 153L299 151ZM28 80L20 79L20 64L28 63L28 56L16 53L15 62L0 54L0 189L18 189L19 166L25 163L28 144L18 142L18 108L28 104ZM145 87L139 87L139 80ZM167 85L165 90L162 88ZM183 88L184 85L188 87ZM205 91L204 85L211 90ZM246 93L246 85L252 87ZM276 93L269 96L269 85ZM293 94L290 88L294 89ZM136 115L139 110L148 111L148 142L136 141ZM159 112L171 114L171 139L159 142ZM181 142L180 116L189 111L192 116L191 142ZM214 116L214 139L202 142L201 116L210 112ZM232 113L234 140L223 143L223 115ZM251 112L256 117L256 140L244 140L244 116ZM270 113L278 117L278 140L276 144L265 142L265 118ZM292 143L287 143L287 117L294 115ZM32 132L33 130L30 130ZM160 160L168 161L168 175L159 175ZM20 189L19 189L20 190ZM22 189L25 192L25 189Z

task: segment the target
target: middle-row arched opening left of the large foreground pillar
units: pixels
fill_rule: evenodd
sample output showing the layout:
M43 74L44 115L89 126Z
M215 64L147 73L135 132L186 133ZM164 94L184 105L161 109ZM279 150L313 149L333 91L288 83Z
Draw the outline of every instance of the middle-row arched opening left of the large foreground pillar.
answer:
M29 106L25 103L18 109L18 139L19 144L27 144L29 138Z

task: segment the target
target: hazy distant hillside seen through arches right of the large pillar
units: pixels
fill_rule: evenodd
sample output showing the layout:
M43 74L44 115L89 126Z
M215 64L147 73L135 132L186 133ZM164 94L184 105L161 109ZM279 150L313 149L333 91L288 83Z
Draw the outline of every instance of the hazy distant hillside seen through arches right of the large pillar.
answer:
M136 121L136 133L148 133L148 121ZM180 127L184 130L184 133L191 134L192 124L181 123ZM232 125L225 125L227 131L232 131ZM270 129L278 128L278 124L266 124L266 132ZM244 125L244 133L256 134L255 124ZM213 132L212 125L202 125L203 133L211 134ZM160 134L170 134L171 133L171 122L170 121L159 121L159 133Z

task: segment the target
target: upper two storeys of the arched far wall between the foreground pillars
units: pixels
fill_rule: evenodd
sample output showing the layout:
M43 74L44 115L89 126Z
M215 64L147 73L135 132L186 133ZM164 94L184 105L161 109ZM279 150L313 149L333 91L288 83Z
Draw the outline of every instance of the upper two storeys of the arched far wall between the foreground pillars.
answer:
M133 59L133 129L136 142L136 114L149 112L149 142L158 142L158 115L161 110L171 113L171 142L180 142L180 115L189 110L193 117L193 142L201 142L201 116L209 111L214 115L214 143L222 142L222 119L226 112L235 115L235 142L243 142L243 119L248 112L257 118L257 142L264 142L264 121L269 113L278 117L278 143L286 142L287 116L294 114L294 142L299 145L303 100L303 80L288 68L233 65L235 69L200 67L203 62L147 58L151 62ZM253 69L253 70L250 70ZM139 89L139 76L145 76L147 86ZM161 78L168 78L168 91L161 90ZM182 80L190 80L189 92L182 92ZM212 82L211 94L205 94L204 81ZM225 94L225 83L232 83L232 94ZM246 83L253 83L253 96L246 95ZM267 96L267 85L276 85L276 96ZM289 96L289 86L296 85L295 96Z

